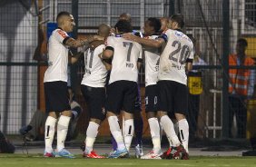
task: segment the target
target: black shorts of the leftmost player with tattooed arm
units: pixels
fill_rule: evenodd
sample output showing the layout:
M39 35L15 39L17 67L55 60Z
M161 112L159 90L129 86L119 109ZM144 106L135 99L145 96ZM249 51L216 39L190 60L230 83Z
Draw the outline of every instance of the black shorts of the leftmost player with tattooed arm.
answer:
M63 81L44 83L46 113L70 110L67 83Z

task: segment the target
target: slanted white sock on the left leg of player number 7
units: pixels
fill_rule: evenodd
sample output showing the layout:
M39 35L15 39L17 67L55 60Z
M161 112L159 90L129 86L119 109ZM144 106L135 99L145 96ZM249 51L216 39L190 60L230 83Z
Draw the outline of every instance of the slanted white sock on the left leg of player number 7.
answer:
M109 123L110 132L112 133L113 138L114 138L115 142L117 143L117 149L123 150L125 148L125 145L123 142L123 135L121 133L121 128L118 123L117 116L110 116L110 117L108 117L107 120Z

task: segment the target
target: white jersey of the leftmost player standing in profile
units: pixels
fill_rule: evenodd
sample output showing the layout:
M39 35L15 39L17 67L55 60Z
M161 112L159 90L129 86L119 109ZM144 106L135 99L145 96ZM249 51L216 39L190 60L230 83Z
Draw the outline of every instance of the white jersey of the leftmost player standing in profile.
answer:
M64 40L68 38L68 34L59 28L51 34L48 43L48 68L44 73L44 83L67 82L68 47L64 45Z

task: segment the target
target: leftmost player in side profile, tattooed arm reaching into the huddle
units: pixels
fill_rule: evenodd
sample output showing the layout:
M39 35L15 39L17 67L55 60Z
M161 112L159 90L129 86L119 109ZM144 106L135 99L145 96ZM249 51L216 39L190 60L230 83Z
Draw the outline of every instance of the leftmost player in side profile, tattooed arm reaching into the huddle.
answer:
M44 94L46 113L44 157L61 156L74 158L74 155L64 148L64 142L71 119L71 110L67 88L67 64L69 47L79 47L97 39L97 36L84 40L75 40L67 33L74 29L74 17L68 12L57 15L58 28L51 34L48 44L48 68L44 74ZM53 152L55 123L57 122L57 148Z

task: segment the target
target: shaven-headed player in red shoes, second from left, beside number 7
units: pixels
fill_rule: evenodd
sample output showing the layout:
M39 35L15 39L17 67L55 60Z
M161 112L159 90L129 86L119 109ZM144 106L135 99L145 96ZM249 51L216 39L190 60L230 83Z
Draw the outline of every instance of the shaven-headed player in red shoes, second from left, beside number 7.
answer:
M100 25L98 34L103 39L106 39L110 34L110 26L105 24ZM84 141L85 150L83 156L86 158L104 158L93 150L98 128L105 118L104 87L107 76L107 69L98 56L105 48L104 40L95 44L91 44L91 47L84 53L84 77L81 83L81 90L90 113L90 122Z

